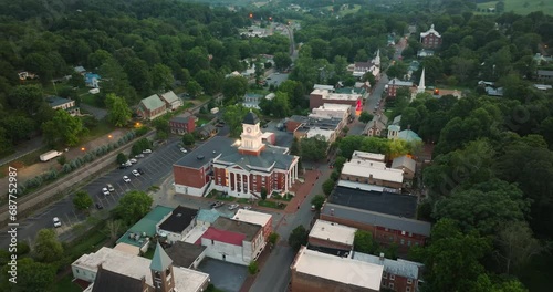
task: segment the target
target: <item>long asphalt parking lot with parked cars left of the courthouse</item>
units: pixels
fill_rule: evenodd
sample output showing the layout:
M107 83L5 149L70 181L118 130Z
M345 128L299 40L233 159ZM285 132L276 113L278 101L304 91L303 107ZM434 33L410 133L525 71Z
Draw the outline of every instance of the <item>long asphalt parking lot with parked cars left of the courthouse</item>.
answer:
M126 191L131 189L147 190L152 185L159 184L159 181L171 171L173 164L185 155L177 147L179 139L175 138L166 145L155 149L153 154L139 158L138 163L133 167L112 170L91 181L84 189L93 197L94 202L101 204L105 210L112 209ZM139 177L133 176L131 171L136 168L142 168L145 174ZM124 175L131 178L131 182L125 184L123 181ZM101 194L101 189L105 187L106 184L112 184L115 188L115 192L107 197ZM34 240L39 230L52 227L53 217L59 217L63 223L61 228L56 229L62 240L69 238L71 232L65 231L67 231L71 226L85 220L84 215L74 210L72 196L69 196L43 210L36 211L35 216L20 221L18 230L19 240ZM2 230L2 232L0 232L0 247L8 247L8 233L6 230Z

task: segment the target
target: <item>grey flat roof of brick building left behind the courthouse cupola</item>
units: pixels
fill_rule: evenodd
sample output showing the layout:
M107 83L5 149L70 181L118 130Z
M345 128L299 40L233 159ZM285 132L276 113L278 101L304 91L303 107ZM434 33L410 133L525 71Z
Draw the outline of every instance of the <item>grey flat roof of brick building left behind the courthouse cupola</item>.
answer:
M175 165L198 169L209 164L216 156L220 155L221 152L227 154L236 152L237 149L231 147L234 142L234 139L228 137L215 136L188 155L185 155L185 157L175 163Z

